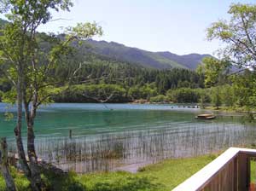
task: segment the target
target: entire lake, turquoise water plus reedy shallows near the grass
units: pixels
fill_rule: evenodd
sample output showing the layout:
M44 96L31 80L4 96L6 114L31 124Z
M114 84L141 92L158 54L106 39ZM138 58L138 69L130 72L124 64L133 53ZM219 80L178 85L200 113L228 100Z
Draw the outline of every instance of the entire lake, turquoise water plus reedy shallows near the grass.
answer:
M8 137L9 148L15 151L15 119L4 119L7 110L15 112L15 107L7 109L0 103L0 134ZM255 124L246 123L241 114L215 112L217 119L195 119L199 113L210 112L174 104L54 103L38 111L37 151L41 158L63 169L88 172L255 142Z

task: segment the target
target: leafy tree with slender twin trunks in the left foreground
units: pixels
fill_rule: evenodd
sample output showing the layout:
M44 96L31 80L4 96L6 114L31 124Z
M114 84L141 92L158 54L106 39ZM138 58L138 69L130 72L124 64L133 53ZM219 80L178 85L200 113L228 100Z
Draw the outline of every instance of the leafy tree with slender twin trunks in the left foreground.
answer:
M9 80L13 84L10 90L4 90L3 101L17 102L17 123L15 136L20 157L20 167L26 173L32 190L41 190L41 176L37 162L31 160L35 153L34 121L41 104L51 102L51 97L61 92L61 84L72 81L79 68L70 70L68 56L73 52L72 43L102 35L102 28L96 23L79 23L67 29L66 38L54 35L45 37L38 33L38 27L51 20L53 11L69 10L71 0L14 0L1 1L0 13L9 20L0 28L0 74L1 82ZM44 40L43 40L44 39ZM47 43L47 46L42 45ZM65 78L55 75L58 65L65 63L68 68ZM3 75L3 76L2 76ZM3 87L2 87L3 89ZM15 96L16 95L16 96ZM21 138L22 109L25 110L27 126L27 154ZM22 159L23 157L23 159ZM21 162L23 161L23 162ZM5 177L11 179L10 177ZM8 181L8 180L6 180ZM13 183L14 184L14 183ZM17 182L19 184L19 182ZM12 189L15 185L11 185ZM77 188L73 188L77 189ZM22 190L27 190L22 188Z

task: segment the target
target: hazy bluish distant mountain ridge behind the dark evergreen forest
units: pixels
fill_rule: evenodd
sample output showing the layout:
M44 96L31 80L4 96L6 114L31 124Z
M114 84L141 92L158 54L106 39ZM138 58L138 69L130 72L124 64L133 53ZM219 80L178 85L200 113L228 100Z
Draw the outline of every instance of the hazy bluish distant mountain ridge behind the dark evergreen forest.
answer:
M212 55L176 55L171 52L150 52L143 49L127 47L121 43L96 41L89 39L86 41L90 46L87 46L87 51L96 55L104 55L110 59L117 61L125 61L143 67L151 67L156 69L166 68L186 68L195 70L201 63L201 60Z

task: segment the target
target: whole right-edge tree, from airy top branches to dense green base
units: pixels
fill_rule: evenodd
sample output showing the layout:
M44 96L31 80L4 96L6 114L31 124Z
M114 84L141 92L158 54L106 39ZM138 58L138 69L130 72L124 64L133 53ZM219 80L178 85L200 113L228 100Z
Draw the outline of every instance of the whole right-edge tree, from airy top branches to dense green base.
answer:
M228 13L230 20L218 20L207 29L209 40L218 39L225 46L218 50L220 61L204 61L205 84L227 83L222 77L228 63L240 67L243 73L233 73L229 84L212 89L212 103L215 107L224 103L227 107L255 110L256 5L233 3Z

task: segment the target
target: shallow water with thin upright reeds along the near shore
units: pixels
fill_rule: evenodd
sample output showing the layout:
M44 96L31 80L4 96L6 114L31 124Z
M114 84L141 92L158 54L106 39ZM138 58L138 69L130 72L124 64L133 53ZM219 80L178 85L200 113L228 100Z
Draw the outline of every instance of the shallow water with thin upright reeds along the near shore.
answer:
M234 146L255 144L256 129L247 124L198 122L178 127L131 130L94 136L37 140L38 156L64 171L113 171L122 165L195 157ZM15 150L15 145L10 147Z

